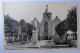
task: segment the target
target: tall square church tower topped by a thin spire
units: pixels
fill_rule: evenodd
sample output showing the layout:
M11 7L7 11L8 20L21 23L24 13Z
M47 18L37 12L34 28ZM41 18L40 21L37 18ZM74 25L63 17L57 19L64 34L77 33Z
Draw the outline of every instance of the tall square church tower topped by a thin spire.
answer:
M41 22L40 34L43 40L51 39L51 24L52 23L52 13L48 11L48 5L46 5L46 10L43 13L43 20Z

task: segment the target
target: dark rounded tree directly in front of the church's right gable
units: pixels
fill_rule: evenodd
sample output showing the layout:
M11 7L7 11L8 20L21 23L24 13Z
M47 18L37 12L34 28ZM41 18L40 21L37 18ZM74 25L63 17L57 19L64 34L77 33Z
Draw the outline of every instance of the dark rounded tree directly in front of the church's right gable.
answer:
M56 28L55 28L56 32L60 35L60 37L62 37L62 35L65 34L65 32L68 30L68 24L67 21L64 20L62 22L60 22Z

